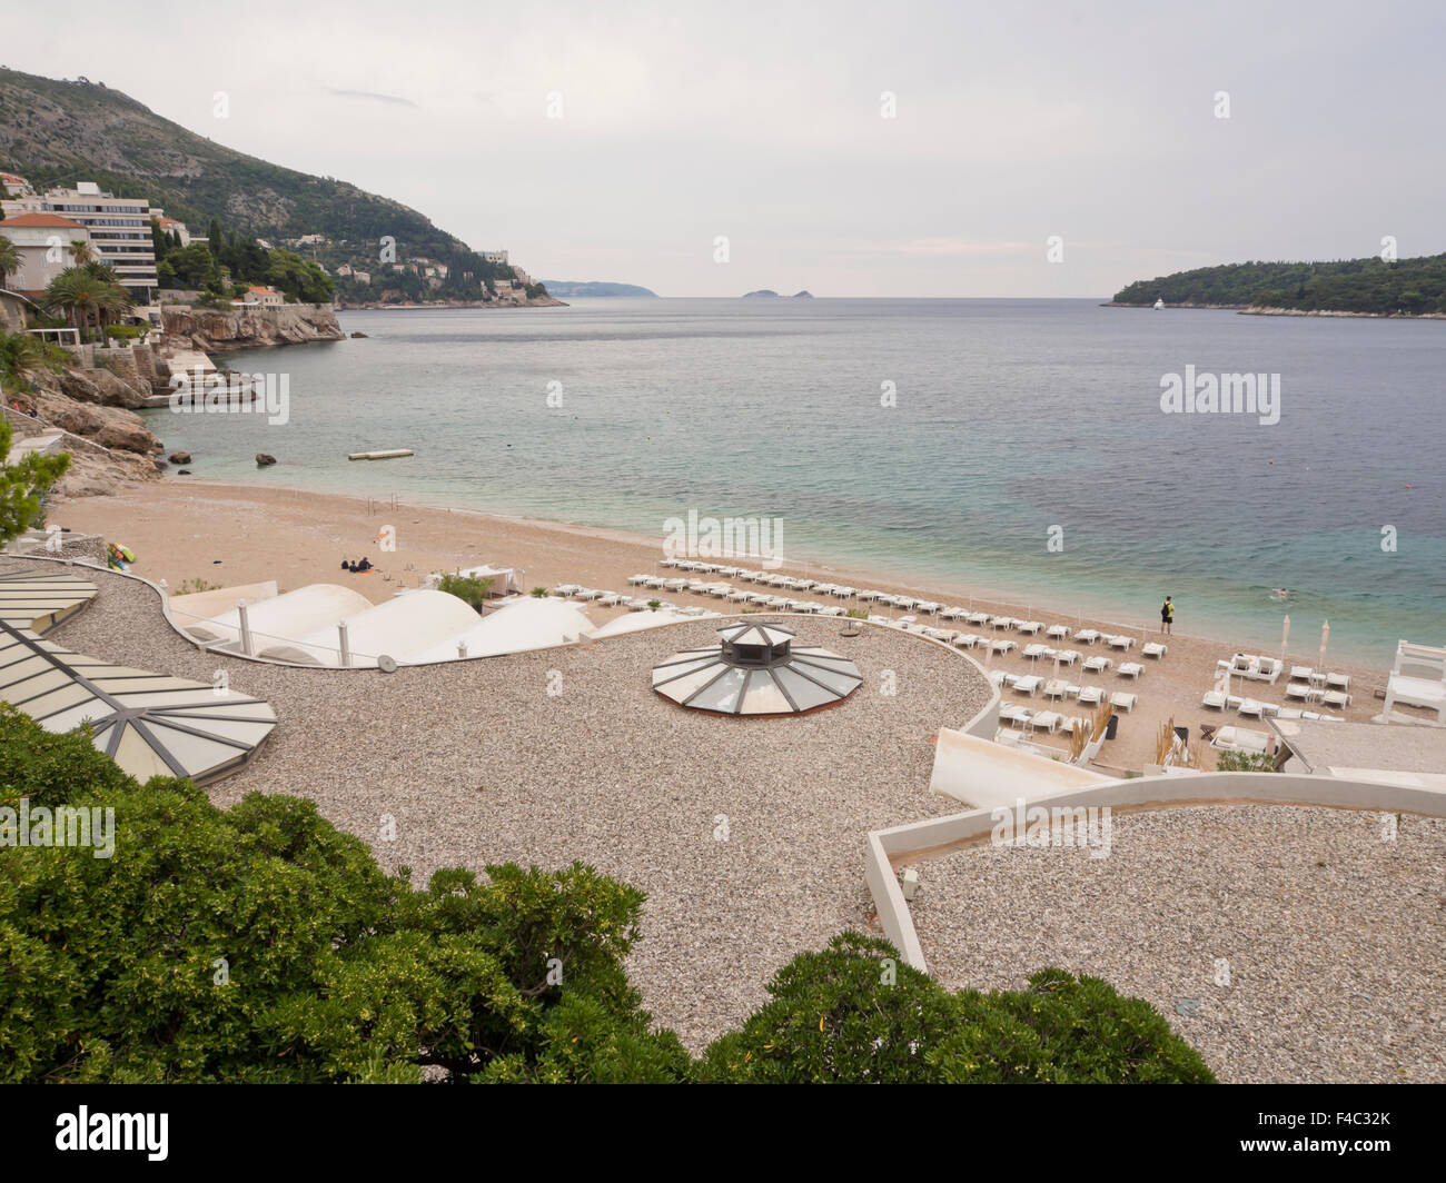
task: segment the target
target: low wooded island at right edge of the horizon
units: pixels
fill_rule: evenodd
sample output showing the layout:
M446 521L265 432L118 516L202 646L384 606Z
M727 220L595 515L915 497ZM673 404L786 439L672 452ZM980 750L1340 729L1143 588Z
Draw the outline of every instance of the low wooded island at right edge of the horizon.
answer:
M1446 255L1385 262L1228 263L1139 279L1111 304L1235 308L1262 315L1446 317Z

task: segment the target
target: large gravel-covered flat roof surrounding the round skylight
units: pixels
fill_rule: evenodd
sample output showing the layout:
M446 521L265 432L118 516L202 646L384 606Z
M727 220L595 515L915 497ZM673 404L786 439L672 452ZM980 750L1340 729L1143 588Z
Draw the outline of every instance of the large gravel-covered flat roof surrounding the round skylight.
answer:
M652 693L652 667L716 642L717 619L390 675L263 665L201 654L145 584L95 580L101 593L55 641L176 677L226 670L276 709L270 739L213 801L309 797L416 884L440 866L581 859L642 888L629 972L694 1051L765 1001L797 953L872 923L865 833L959 808L927 791L931 738L989 700L969 661L888 629L840 638L837 620L790 625L857 662L863 686L792 719L723 719ZM885 670L895 694L881 693ZM380 840L386 814L395 842Z

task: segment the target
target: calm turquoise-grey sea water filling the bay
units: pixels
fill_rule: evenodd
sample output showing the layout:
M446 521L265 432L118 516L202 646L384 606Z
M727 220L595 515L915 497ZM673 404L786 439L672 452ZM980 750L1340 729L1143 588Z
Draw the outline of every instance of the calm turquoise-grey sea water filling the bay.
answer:
M213 480L659 544L690 509L779 518L790 560L1058 612L1154 619L1168 593L1178 632L1267 649L1284 610L1296 651L1325 619L1330 652L1374 665L1403 636L1446 644L1442 323L1054 299L591 299L341 323L369 338L228 359L289 376L285 425L156 411L152 430ZM1186 366L1280 375L1280 422L1163 414L1161 376ZM390 447L416 456L346 460ZM281 463L257 470L257 451Z

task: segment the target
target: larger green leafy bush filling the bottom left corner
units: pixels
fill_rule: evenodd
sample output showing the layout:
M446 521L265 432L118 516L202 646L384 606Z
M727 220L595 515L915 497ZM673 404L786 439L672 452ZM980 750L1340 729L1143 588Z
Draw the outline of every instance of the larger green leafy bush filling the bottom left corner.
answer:
M590 868L490 866L490 884L441 871L414 891L311 801L252 794L221 811L189 781L137 785L84 736L0 707L0 806L22 797L113 807L116 849L0 847L0 1080L687 1069L622 969L642 892Z

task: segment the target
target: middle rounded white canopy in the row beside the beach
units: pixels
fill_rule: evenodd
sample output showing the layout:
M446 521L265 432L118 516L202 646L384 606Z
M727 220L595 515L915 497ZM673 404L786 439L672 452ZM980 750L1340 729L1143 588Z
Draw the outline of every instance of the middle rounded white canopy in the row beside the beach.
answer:
M299 665L341 665L340 616L322 628L288 641L256 638L256 655ZM351 665L376 665L382 655L412 661L414 654L477 623L476 610L445 592L422 589L346 616ZM253 626L254 633L254 626ZM453 657L457 655L453 646Z

